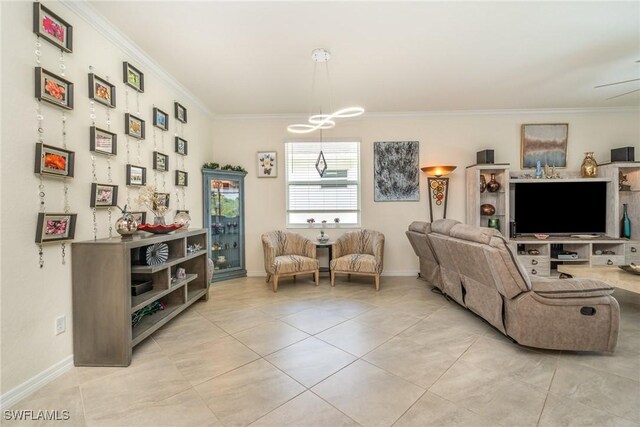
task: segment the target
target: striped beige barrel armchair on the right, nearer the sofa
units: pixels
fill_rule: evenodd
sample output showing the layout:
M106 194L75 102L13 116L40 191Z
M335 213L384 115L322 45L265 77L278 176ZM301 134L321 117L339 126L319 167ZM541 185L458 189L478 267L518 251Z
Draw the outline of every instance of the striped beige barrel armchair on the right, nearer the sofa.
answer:
M345 233L333 244L331 286L336 273L373 276L376 291L380 289L380 273L384 258L384 234L373 230Z

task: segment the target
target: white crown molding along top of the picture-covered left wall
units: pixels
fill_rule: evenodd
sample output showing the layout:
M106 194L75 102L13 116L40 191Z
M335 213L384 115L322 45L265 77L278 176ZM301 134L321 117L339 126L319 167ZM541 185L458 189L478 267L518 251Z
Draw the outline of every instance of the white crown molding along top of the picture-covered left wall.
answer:
M189 89L184 87L173 75L171 75L153 58L151 58L149 54L135 44L133 40L131 40L118 27L112 24L111 21L105 18L91 4L89 4L87 0L61 0L61 4L76 13L96 31L122 49L132 61L135 61L144 69L152 71L161 80L173 87L182 96L188 99L192 105L197 106L210 118L215 116L209 107L202 102L202 100L195 96Z

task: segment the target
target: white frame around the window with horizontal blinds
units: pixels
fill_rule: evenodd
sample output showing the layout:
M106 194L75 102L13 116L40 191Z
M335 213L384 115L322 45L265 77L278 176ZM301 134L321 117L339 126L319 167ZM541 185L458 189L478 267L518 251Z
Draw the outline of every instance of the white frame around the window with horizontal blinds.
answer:
M296 139L287 139L284 141L285 146L285 171L284 171L284 181L285 181L285 216L286 216L286 224L287 228L360 228L361 227L361 217L362 217L362 203L361 203L361 193L362 193L362 156L360 155L360 146L361 141L360 138L331 138L331 139L323 139L322 143L332 143L332 142L354 142L357 145L357 153L358 153L358 179L357 179L357 211L356 217L357 222L354 223L338 223L327 221L326 224L322 224L320 222L316 222L312 225L309 224L297 224L289 222L289 143L320 143L319 139L305 139L305 138L296 138ZM329 165L330 166L330 165ZM329 167L329 169L331 169ZM351 181L352 182L352 181ZM312 184L317 184L317 182L311 181ZM336 212L336 209L328 210L330 212ZM297 211L297 212L307 212L307 211ZM310 214L319 212L318 210L309 210ZM353 212L352 210L348 210L345 212Z

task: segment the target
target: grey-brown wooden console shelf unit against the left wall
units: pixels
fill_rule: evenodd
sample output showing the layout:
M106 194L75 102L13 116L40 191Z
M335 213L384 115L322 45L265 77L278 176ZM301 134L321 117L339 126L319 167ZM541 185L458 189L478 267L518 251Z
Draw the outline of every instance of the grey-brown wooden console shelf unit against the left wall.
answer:
M169 259L158 265L132 265L140 248L166 243ZM201 250L187 252L199 244ZM74 242L72 252L73 358L76 366L129 366L133 347L197 300L209 297L207 231L136 235ZM178 268L187 275L173 279ZM131 295L134 280L152 289ZM144 316L132 326L132 315L154 302L164 310Z

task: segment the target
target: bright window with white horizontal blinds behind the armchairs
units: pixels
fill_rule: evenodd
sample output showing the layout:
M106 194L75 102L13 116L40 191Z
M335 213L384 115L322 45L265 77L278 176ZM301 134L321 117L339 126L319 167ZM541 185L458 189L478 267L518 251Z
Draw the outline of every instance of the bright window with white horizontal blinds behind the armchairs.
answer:
M320 150L327 170L321 178L316 170ZM287 225L307 225L326 220L333 224L360 224L360 143L287 142Z

